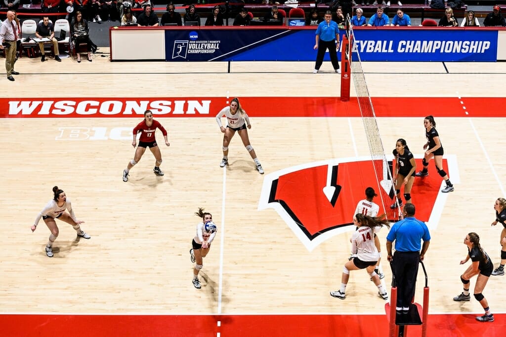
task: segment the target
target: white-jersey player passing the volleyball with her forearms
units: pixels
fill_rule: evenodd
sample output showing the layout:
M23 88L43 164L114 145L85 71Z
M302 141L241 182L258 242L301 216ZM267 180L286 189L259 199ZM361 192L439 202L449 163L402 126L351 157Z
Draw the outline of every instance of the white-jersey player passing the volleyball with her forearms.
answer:
M204 263L203 258L209 253L211 243L216 236L216 225L213 223L213 215L204 212L203 208L199 208L195 215L202 218L202 222L197 223L197 234L192 240L192 249L190 249L191 262L195 263L193 268L193 286L200 289L200 281L198 273L202 269Z

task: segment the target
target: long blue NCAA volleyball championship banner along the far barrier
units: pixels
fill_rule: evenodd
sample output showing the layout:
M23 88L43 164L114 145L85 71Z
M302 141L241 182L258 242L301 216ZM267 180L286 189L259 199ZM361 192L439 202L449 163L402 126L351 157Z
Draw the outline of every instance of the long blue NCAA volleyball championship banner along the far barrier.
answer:
M496 30L356 29L355 39L362 61L497 60ZM314 43L312 27L165 30L166 61L315 61Z

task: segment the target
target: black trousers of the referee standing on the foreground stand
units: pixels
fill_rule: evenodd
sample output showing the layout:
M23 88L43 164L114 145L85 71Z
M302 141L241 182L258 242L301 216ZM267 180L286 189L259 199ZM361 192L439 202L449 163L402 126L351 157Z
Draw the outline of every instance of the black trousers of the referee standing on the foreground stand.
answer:
M394 273L397 285L397 307L407 308L413 300L419 264L420 252L395 252Z

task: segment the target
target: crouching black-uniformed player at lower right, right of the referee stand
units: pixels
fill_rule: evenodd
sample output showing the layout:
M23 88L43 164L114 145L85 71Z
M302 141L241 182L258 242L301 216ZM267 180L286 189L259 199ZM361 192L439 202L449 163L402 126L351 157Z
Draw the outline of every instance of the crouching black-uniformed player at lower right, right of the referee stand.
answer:
M453 301L461 302L461 301L469 301L471 300L471 296L469 295L469 286L471 277L478 275L475 284L474 297L478 302L480 302L483 309L485 309L485 315L476 317L476 320L480 322L493 322L494 315L490 312L490 308L488 307L488 302L483 296L481 292L487 285L488 278L492 273L492 269L494 265L487 253L480 246L480 237L478 234L471 232L466 235L464 239L464 245L468 246L468 256L466 259L460 261L460 264L465 264L471 259L473 264L466 269L466 271L460 276L460 280L463 283L464 291L453 298Z

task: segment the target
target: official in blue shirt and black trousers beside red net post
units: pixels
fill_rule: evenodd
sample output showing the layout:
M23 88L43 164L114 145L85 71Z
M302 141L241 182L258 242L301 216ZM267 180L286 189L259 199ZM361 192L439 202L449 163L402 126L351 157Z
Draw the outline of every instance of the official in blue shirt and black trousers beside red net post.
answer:
M313 73L317 74L320 70L323 64L323 57L328 49L330 62L332 62L334 71L341 74L337 52L339 50L339 27L335 21L332 21L332 12L326 11L323 18L325 20L320 22L318 28L316 28L316 43L313 49L318 50L318 53L316 54L316 64Z

